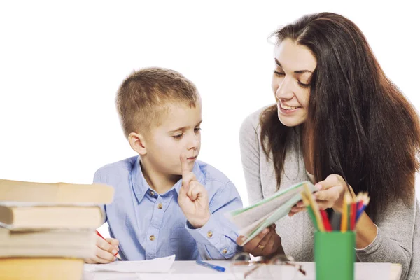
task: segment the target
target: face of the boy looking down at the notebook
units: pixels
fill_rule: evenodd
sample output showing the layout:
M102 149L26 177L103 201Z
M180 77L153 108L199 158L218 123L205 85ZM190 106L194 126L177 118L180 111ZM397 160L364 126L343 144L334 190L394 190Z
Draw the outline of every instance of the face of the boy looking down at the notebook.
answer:
M185 154L193 169L201 146L201 102L169 104L159 126L151 127L146 145L149 166L163 175L181 175L180 155Z

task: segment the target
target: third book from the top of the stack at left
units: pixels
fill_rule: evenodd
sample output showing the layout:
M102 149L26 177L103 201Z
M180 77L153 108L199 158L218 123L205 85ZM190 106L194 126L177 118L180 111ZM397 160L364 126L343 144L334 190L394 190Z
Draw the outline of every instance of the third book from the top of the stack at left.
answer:
M0 228L0 259L14 257L91 258L94 230L11 232ZM1 277L0 277L1 279Z

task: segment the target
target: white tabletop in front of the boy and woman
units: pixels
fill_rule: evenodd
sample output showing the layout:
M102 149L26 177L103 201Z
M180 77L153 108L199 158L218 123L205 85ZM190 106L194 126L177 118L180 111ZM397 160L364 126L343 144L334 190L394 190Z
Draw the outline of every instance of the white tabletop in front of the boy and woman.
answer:
M195 279L195 280L235 280L235 275L232 274L229 261L210 261L214 265L220 265L226 268L225 272L217 272L214 269L202 267L197 265L195 261L175 261L172 265L171 271L167 273L121 273L121 272L85 272L83 280L162 280L162 279ZM303 265L303 269L307 272L306 276L298 274L297 279L315 280L315 264L314 262L299 262ZM244 271L249 269L243 267ZM235 269L236 271L236 269ZM356 263L355 264L355 280L399 280L401 274L401 265L389 263ZM250 279L253 279L249 276ZM283 276L284 279L289 280L290 277ZM247 278L248 279L248 278ZM279 277L276 277L279 279Z

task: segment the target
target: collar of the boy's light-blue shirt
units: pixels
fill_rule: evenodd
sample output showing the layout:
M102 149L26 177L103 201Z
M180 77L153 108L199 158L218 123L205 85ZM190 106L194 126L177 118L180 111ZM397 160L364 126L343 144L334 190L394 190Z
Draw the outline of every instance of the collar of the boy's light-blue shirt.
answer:
M199 181L202 185L204 185L205 176L197 161L194 163L193 173L195 174L197 181ZM144 195L146 195L146 192L149 189L151 189L151 187L146 182L146 179L144 179L143 172L141 171L140 156L137 157L137 160L134 163L134 167L131 172L131 179L132 179L132 187L133 187L134 195L136 195L137 203L140 203L141 200L143 200ZM170 190L167 191L167 193L172 192L173 190L176 190L176 195L179 195L179 190L181 186L182 186L182 179L176 182L175 185Z

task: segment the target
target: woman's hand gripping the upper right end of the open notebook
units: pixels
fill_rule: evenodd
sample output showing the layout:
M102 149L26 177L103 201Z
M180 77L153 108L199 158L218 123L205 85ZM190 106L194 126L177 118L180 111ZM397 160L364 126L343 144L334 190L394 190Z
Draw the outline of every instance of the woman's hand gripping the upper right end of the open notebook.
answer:
M347 190L346 181L344 181L342 176L331 174L324 181L316 183L315 187L318 191L314 193L314 198L318 203L319 209L332 208L334 211L342 211L343 197ZM291 217L304 210L306 210L306 207L300 201L292 207L288 215Z

